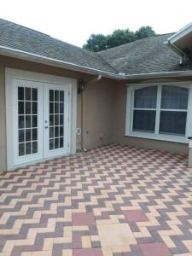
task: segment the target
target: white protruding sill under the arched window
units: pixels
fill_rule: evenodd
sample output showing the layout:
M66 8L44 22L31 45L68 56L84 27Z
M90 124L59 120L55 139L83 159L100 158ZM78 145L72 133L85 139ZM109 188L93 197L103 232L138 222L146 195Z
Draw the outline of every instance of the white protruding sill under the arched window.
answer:
M125 137L140 137L140 138L146 138L151 140L189 144L189 140L186 137L172 136L172 135L166 135L166 134L157 135L153 133L139 132L139 131L126 132Z

